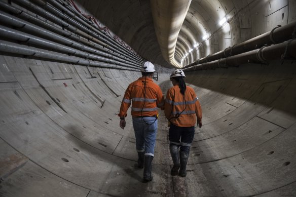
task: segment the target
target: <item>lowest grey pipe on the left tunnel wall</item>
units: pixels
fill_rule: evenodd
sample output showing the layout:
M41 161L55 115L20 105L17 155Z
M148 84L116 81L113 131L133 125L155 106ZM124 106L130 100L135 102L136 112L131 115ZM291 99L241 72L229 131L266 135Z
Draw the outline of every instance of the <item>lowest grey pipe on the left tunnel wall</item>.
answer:
M0 51L6 52L6 53L12 53L12 54L19 54L19 55L25 55L25 56L31 56L34 58L44 58L54 61L62 61L66 63L73 63L73 64L79 64L79 65L85 65L85 66L94 66L94 67L103 67L103 68L113 68L113 69L122 69L122 70L132 70L132 71L139 71L136 69L126 68L124 66L118 66L118 65L112 65L108 63L101 63L98 61L91 61L79 57L73 57L73 56L65 56L64 54L47 51L44 49L38 49L28 46L23 46L7 41L2 41L0 43Z

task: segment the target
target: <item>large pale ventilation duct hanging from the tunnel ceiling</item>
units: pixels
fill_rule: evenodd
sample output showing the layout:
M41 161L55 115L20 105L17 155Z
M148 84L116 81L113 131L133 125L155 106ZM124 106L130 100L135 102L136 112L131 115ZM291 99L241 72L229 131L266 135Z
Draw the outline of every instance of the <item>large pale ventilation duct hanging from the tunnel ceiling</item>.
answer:
M157 40L164 59L175 67L182 67L174 58L176 42L191 0L152 0L151 9Z

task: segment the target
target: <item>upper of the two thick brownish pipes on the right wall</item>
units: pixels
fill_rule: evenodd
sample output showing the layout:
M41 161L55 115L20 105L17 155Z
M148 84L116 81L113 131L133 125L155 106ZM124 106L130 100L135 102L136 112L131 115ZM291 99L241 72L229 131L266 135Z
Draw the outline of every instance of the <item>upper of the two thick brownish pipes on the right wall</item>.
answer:
M184 66L184 68L192 67L194 65L206 62L211 62L221 58L230 57L233 55L238 55L247 51L261 48L264 45L282 43L295 37L295 33L296 22L292 22L284 26L277 26L273 28L271 31L268 31L262 35L258 35L238 45L234 45L232 47L226 48L223 51L219 51L212 55L208 55L207 57L203 57L187 66Z

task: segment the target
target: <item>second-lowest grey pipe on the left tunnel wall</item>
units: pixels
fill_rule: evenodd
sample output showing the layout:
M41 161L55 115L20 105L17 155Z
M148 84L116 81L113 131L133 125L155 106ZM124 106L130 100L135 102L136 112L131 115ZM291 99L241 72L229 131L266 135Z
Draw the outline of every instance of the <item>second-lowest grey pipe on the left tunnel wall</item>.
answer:
M96 61L102 61L102 62L106 62L106 63L113 63L113 64L118 64L118 65L122 65L122 66L126 66L126 67L131 67L131 68L137 68L134 66L130 66L118 61L114 61L114 60L110 60L107 58L102 58L96 55L92 55L86 52L82 52L76 49L72 49L70 47L66 47L64 45L60 45L57 43L53 43L51 41L47 41L43 38L40 37L36 37L34 35L30 35L27 33L23 33L8 27L4 27L2 25L0 25L0 35L13 39L13 40L17 40L20 42L24 42L27 44L31 44L31 45L35 45L35 46L39 46L39 47L44 47L44 48L48 48L51 50L55 50L58 52L62 52L62 53L66 53L66 54L70 54L72 56L80 56L83 58L87 58L87 59L92 59L92 60L96 60Z

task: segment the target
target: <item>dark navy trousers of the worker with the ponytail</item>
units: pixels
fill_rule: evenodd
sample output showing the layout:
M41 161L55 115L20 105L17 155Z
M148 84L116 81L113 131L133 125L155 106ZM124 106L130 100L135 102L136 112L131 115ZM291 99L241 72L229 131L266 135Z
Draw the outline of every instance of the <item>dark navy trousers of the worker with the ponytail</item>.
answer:
M194 138L194 126L192 127L178 127L173 124L169 129L169 141L171 144L176 144L181 151L189 151L191 143ZM181 141L181 142L180 142Z

